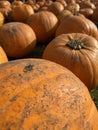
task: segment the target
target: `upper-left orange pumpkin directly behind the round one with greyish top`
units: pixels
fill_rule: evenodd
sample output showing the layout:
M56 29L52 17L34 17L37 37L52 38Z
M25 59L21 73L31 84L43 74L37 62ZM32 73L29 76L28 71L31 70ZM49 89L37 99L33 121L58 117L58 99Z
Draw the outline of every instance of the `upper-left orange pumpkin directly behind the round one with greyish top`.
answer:
M30 15L34 14L33 8L28 4L22 4L12 9L11 17L15 22L26 23Z

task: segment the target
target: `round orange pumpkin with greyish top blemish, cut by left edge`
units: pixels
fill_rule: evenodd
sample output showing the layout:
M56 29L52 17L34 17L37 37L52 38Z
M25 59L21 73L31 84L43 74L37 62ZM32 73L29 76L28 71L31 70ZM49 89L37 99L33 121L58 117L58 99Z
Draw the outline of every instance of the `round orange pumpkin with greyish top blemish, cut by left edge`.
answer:
M0 28L0 45L9 57L20 58L34 49L36 35L27 24L9 22Z

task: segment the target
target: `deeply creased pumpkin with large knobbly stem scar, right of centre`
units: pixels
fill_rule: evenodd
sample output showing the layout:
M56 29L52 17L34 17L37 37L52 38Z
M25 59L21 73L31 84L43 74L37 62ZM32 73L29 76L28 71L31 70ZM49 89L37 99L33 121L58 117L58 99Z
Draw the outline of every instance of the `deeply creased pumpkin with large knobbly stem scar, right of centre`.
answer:
M62 34L47 45L42 57L67 67L89 90L98 85L98 42L93 37Z

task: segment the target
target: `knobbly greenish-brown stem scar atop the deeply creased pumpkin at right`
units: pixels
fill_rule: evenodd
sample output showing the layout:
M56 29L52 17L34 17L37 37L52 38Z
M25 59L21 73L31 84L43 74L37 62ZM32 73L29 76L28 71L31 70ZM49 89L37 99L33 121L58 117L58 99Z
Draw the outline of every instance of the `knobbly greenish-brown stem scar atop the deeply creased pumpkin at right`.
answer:
M79 40L71 39L70 41L67 42L66 45L74 50L80 50L84 48L84 43L80 42Z

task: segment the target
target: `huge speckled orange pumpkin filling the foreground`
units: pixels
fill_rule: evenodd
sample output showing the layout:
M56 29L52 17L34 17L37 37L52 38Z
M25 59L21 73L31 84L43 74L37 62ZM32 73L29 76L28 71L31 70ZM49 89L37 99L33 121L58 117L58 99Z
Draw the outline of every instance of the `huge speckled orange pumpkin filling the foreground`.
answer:
M43 59L0 65L1 130L97 130L98 112L85 85Z

